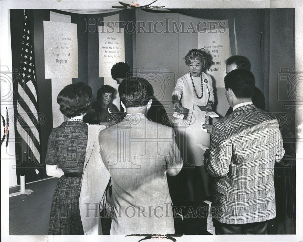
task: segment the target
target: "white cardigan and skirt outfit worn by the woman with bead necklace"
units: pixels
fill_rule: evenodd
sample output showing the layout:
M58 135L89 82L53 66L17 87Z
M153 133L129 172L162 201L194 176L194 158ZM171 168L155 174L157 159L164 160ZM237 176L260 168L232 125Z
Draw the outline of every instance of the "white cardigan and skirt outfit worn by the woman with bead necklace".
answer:
M178 119L177 142L184 165L203 165L204 151L198 144L210 145L210 136L201 129L201 123L205 123L205 116L198 108L206 106L209 102L214 103L214 88L211 77L201 72L203 77L203 97L197 98L189 72L178 78L172 95L178 96L181 105L189 109L189 118L187 121ZM192 77L198 96L201 96L201 76Z

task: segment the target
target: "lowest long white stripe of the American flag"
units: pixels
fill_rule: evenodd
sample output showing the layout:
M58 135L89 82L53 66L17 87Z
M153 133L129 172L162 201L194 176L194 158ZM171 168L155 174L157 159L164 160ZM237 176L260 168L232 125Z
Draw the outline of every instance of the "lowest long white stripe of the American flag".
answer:
M40 153L38 152L36 146L32 142L30 135L22 128L19 122L16 122L17 130L19 135L22 137L22 149L29 156L30 159L36 159L40 164ZM30 155L32 153L32 155Z

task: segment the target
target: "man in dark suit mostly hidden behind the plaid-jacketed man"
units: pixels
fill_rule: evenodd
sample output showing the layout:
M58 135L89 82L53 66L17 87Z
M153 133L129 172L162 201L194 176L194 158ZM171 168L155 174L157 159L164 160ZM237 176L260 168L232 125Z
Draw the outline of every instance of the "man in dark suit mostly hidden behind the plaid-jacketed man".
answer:
M229 72L235 69L245 69L250 71L251 68L250 61L245 56L242 55L233 55L229 57L227 60L225 60L225 64L226 64L226 74L228 74ZM258 87L255 87L255 92L254 95L252 96L252 103L255 104L256 107L265 110L265 97ZM229 107L225 116L231 114L231 112L232 112L232 108ZM207 132L210 135L212 134L213 125L205 124L203 128L207 129Z

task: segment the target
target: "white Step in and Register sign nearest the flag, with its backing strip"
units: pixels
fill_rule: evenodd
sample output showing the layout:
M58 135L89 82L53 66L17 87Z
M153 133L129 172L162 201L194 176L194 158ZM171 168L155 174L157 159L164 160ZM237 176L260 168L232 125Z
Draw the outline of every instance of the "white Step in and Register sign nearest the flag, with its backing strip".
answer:
M50 20L43 21L44 65L45 78L52 79L53 127L57 127L64 121L57 96L78 77L78 35L77 24L70 23L70 16L50 12Z

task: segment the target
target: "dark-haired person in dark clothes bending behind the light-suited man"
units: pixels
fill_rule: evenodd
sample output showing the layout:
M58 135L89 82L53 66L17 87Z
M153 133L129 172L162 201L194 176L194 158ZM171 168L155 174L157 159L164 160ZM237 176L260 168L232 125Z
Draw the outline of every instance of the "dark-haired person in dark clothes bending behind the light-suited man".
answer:
M131 68L125 62L118 62L113 65L111 72L112 79L117 81L118 84L120 84L124 79L133 76ZM152 96L152 104L151 108L148 111L147 118L156 123L171 126L170 120L168 118L164 106L162 105L162 103L159 102L159 100L155 96Z

